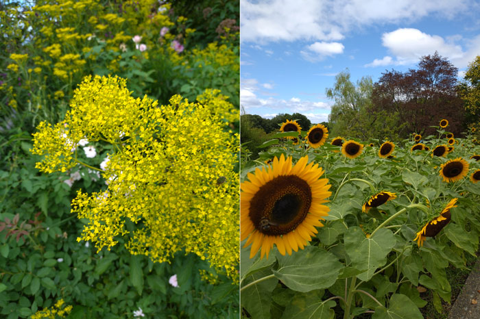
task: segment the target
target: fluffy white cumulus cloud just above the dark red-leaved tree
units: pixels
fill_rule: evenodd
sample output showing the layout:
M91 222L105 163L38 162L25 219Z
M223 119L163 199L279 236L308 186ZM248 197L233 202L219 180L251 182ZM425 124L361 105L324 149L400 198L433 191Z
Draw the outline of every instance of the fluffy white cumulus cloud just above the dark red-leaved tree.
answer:
M448 58L458 68L464 68L468 61L475 57L480 50L480 37L468 42L468 49L464 50L455 41L459 36L442 38L441 36L426 34L418 29L401 28L387 32L382 36L382 44L395 58L387 55L383 59L375 59L366 67L386 65L417 64L423 55L431 55L437 51Z

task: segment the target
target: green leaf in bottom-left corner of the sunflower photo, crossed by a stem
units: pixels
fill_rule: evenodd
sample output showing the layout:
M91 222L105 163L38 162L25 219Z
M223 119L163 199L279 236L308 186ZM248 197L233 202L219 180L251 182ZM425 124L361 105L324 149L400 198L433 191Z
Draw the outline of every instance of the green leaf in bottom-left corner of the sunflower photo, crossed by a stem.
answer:
M252 283L270 274L271 272L269 270L255 272L245 279L245 283ZM254 283L241 290L241 306L247 309L252 318L270 319L272 291L275 289L277 283L278 279L272 277Z

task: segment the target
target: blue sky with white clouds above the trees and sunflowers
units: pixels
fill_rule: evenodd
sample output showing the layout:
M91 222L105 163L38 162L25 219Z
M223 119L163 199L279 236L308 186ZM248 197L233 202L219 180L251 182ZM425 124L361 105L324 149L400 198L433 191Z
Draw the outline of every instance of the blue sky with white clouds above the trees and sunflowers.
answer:
M438 51L461 79L480 55L479 1L241 0L240 23L240 103L266 118L328 120L325 89L346 68L377 81Z

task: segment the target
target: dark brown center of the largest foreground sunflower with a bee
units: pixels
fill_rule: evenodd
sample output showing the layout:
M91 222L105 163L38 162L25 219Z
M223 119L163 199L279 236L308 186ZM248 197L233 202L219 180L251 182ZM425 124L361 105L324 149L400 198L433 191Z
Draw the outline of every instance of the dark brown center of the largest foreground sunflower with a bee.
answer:
M312 201L307 181L296 175L265 183L250 201L250 220L265 235L285 235L300 225Z

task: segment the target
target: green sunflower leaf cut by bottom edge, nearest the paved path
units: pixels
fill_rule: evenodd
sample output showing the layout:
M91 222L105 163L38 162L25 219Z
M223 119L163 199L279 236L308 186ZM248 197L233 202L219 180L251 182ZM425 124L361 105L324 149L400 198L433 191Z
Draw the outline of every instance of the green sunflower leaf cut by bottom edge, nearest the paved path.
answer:
M404 294L394 294L390 298L390 305L376 307L372 319L423 319L418 307Z

